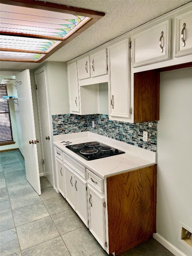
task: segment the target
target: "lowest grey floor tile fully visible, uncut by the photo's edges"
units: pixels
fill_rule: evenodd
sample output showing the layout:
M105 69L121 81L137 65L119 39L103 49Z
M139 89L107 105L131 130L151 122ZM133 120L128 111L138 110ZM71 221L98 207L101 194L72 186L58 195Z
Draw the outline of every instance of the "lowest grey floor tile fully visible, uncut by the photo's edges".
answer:
M59 236L51 217L33 221L16 229L21 250Z

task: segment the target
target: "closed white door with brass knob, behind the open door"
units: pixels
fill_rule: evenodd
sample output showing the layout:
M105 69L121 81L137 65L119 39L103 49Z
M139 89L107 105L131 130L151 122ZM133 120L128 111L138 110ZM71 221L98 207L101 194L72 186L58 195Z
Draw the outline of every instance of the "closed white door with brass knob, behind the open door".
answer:
M41 133L42 154L44 159L44 176L53 186L53 164L51 152L51 131L49 123L48 95L45 80L45 71L35 74L37 85L37 102L39 112L39 124Z

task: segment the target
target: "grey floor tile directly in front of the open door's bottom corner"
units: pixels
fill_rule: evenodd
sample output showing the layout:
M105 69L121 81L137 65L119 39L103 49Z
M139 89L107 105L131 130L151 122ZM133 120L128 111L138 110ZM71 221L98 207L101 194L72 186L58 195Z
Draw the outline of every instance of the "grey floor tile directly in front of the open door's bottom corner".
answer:
M41 198L35 191L28 192L26 194L20 194L15 196L9 196L12 209L23 207L26 205L38 203Z

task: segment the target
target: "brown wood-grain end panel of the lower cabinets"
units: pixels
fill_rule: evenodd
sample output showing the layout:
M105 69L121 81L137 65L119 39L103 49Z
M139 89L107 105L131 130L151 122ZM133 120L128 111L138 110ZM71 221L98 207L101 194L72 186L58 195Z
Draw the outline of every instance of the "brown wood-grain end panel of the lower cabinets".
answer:
M154 232L154 169L153 165L107 178L109 253L123 252Z

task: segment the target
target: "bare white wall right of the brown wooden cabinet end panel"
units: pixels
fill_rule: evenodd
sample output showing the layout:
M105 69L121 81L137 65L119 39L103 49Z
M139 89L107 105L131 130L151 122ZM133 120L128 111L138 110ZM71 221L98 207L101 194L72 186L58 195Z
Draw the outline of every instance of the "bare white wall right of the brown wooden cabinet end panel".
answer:
M191 256L178 227L192 229L192 68L161 73L157 128L157 233Z

